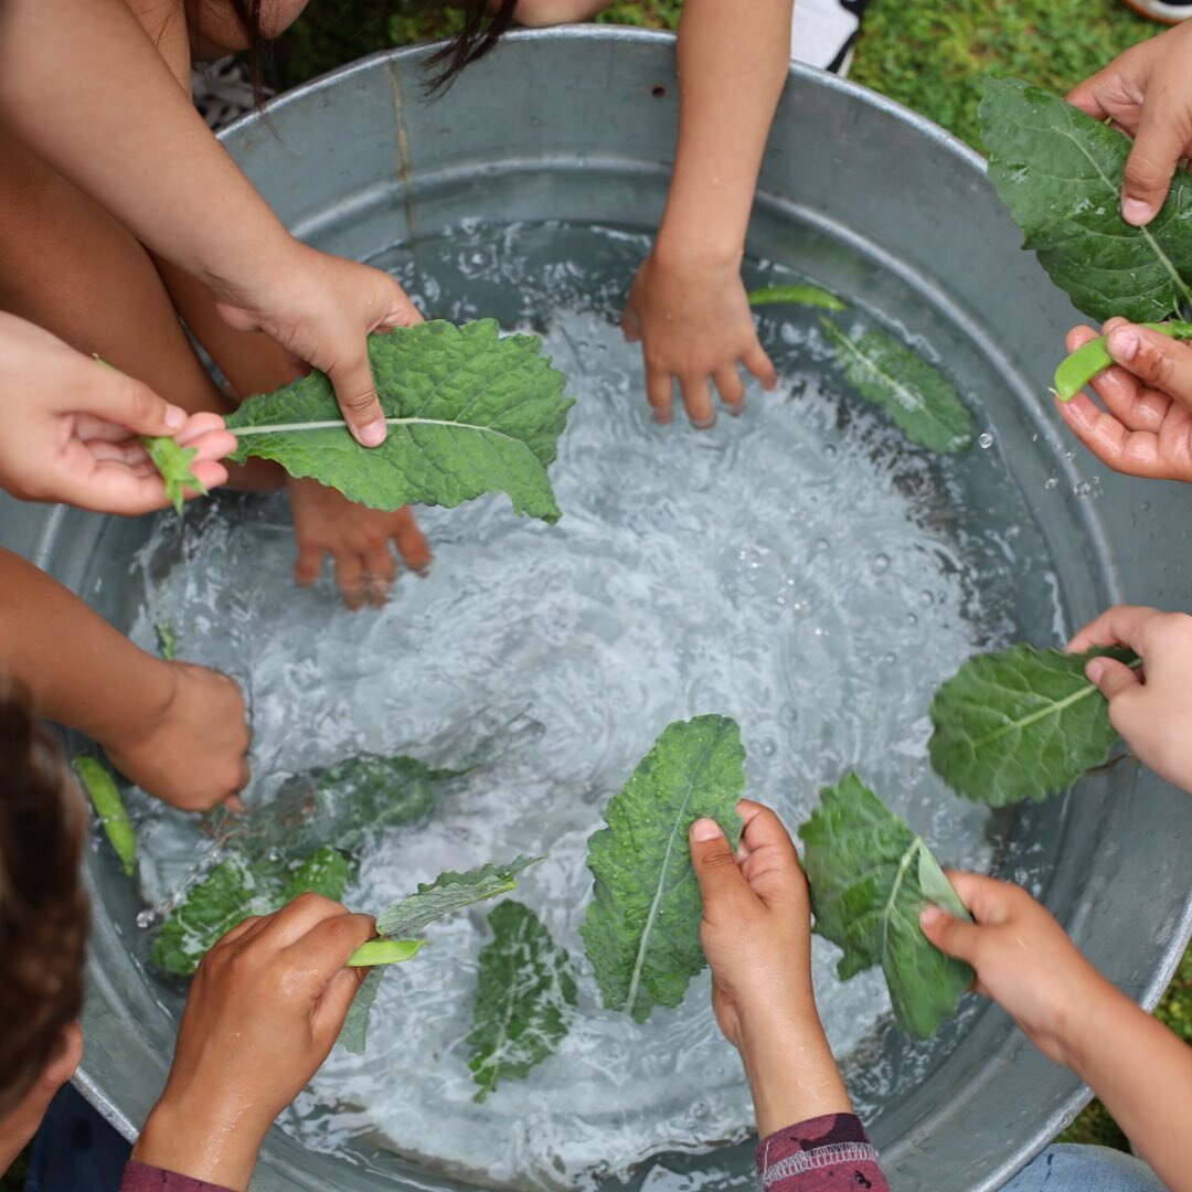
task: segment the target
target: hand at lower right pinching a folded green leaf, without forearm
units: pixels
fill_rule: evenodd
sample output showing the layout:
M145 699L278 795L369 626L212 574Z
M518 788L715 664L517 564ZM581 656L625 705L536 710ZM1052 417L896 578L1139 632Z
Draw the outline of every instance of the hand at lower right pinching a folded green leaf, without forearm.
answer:
M993 998L1048 1058L1070 1066L1081 1012L1109 982L1020 886L955 870L948 880L976 923L929 906L919 915L923 933L971 964L974 991Z

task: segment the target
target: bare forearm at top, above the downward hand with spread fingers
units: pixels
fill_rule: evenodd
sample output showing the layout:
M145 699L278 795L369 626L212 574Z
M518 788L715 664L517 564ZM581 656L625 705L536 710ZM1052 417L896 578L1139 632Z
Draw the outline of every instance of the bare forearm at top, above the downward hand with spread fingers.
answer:
M791 0L687 0L679 126L656 253L738 261L770 123L790 67Z

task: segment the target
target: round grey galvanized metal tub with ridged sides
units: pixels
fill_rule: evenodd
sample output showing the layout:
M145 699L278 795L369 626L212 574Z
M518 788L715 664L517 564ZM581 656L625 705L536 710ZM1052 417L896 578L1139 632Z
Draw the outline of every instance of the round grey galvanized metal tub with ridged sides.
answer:
M415 49L367 58L281 97L268 120L250 116L225 134L304 238L367 257L473 217L654 224L677 110L669 37L609 27L516 33L433 104L422 93L424 57ZM843 257L840 244L849 248ZM1063 477L1067 491L1075 486L1087 461L1063 452L1045 384L1078 316L1019 250L971 151L895 104L794 67L770 137L750 250L850 291L868 286L880 296L890 278L909 286L997 374L983 415L1029 499L1051 474ZM1190 493L1113 476L1101 485L1100 501L1066 498L1062 524L1049 530L1043 520L1073 623L1123 598L1186 607L1178 560L1192 546ZM120 573L143 539L141 523L8 501L0 514L4 545L75 588L98 567L106 581L101 592L91 584L91 598L117 623L129 621ZM1086 955L1147 1006L1192 931L1190 827L1187 796L1124 765L1085 780L1079 802L1056 800L1010 830L1044 840L1045 901ZM131 1137L164 1080L179 997L130 956L138 907L112 858L94 855L88 870L95 923L77 1081ZM898 1048L894 1037L882 1062L898 1064ZM1087 1097L992 1006L917 1062L917 1087L869 1123L898 1188L995 1188ZM650 1187L740 1186L750 1163L749 1147L676 1157L669 1169L701 1173L699 1182L676 1174L656 1177ZM364 1146L341 1156L312 1154L274 1130L254 1187L442 1192L461 1185Z

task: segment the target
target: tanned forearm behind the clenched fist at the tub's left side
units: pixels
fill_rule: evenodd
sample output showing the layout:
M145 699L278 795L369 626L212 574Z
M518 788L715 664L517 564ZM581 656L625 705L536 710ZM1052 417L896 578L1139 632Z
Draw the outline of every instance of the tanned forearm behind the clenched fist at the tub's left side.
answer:
M173 690L166 663L10 551L0 551L0 666L42 715L103 744L136 738Z

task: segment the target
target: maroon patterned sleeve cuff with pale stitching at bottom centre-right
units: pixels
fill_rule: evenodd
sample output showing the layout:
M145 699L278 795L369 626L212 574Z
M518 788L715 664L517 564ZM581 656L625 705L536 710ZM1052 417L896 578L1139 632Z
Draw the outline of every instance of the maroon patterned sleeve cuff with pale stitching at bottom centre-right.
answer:
M853 1113L825 1113L757 1144L760 1192L889 1192L877 1151Z

